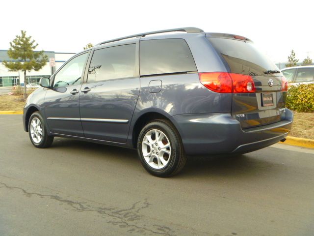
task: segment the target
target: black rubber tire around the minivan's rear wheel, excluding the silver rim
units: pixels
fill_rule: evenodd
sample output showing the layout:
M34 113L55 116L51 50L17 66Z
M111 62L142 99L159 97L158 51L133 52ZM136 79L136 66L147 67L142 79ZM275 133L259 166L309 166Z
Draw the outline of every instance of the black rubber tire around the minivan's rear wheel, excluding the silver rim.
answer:
M160 130L167 136L171 147L171 153L168 157L169 161L161 169L151 167L146 162L142 151L142 143L145 135L154 129ZM137 140L137 151L143 167L149 173L157 177L169 177L176 175L183 169L186 163L186 155L183 149L181 137L173 124L164 119L153 120L142 128Z

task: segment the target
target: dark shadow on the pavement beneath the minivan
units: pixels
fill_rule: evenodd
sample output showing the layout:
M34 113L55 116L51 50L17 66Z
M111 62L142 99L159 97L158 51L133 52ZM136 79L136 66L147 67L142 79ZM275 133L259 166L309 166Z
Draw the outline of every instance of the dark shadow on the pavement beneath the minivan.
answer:
M137 150L108 146L96 143L77 141L66 138L56 138L52 144L53 151L71 151L77 158L102 159L116 162L119 165L127 163L127 168L138 170L142 168L138 160ZM176 177L240 177L261 175L280 175L280 163L269 162L269 151L261 154L188 156L182 172ZM284 171L284 169L282 169ZM175 177L175 178L176 178Z

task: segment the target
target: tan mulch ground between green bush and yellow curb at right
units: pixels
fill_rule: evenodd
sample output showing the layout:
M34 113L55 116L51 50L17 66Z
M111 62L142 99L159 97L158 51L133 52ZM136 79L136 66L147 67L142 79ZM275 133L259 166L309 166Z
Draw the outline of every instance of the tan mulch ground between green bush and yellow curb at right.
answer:
M314 113L294 112L289 136L314 139Z

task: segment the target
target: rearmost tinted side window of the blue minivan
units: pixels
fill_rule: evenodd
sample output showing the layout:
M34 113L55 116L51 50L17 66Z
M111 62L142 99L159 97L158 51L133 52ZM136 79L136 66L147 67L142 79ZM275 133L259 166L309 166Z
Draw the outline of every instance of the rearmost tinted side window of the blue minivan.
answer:
M157 39L140 42L141 75L196 71L194 59L183 39Z

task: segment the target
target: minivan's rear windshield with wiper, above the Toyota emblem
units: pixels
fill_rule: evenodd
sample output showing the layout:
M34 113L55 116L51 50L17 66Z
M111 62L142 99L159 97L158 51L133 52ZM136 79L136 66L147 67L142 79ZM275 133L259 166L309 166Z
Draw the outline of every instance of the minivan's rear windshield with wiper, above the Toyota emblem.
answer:
M267 70L279 70L278 67L264 56L253 43L229 38L209 37L209 42L218 54L225 59L231 73L251 76L282 76L265 74Z

